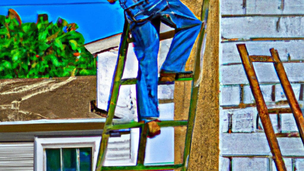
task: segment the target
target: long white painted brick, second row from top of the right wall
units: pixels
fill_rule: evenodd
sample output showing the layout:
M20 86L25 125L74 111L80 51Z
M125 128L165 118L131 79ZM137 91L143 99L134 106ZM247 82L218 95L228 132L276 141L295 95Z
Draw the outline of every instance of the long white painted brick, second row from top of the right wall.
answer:
M304 17L228 17L222 18L224 38L303 37ZM278 24L278 28L277 28Z

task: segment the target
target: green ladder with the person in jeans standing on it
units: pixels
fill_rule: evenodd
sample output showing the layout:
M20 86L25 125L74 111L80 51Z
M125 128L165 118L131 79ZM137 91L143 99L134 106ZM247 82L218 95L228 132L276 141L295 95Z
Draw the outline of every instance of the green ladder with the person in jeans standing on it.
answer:
M190 101L190 108L188 114L188 120L166 120L161 121L158 123L160 127L177 127L177 126L187 126L186 131L186 138L185 138L185 148L184 148L184 157L183 163L181 164L173 164L173 165L159 165L159 166L145 166L144 165L144 157L145 157L145 150L146 150L146 142L147 142L147 131L148 126L147 124L132 121L127 124L113 124L112 120L115 113L116 103L119 95L119 88L120 85L131 85L136 84L136 79L122 79L124 66L126 62L126 54L129 43L133 40L129 37L129 28L130 25L125 19L123 33L120 41L119 46L119 54L116 63L114 79L112 83L112 92L111 92L111 99L109 105L108 116L105 120L105 126L102 132L102 139L100 142L100 149L97 159L96 171L103 171L103 170L129 170L129 171L137 171L137 170L174 170L181 168L182 171L187 170L188 166L188 157L190 154L190 146L191 146L191 138L192 138L192 131L194 126L194 119L195 119L195 111L198 101L198 94L199 94L199 76L200 76L200 54L202 50L203 39L205 37L205 27L206 21L208 17L208 7L209 7L209 0L203 0L202 5L202 14L201 19L203 21L201 31L199 33L199 40L196 48L195 53L195 63L194 63L194 70L191 77L188 77L188 74L178 74L175 81L190 81L192 80L191 85L191 101ZM165 40L172 38L174 36L174 30L168 31L165 33L160 34L160 40ZM159 82L159 84L164 84L164 82ZM103 161L105 160L105 152L108 145L110 131L120 130L120 129L128 129L128 128L141 128L140 133L140 144L138 149L137 155L137 164L136 166L102 166Z

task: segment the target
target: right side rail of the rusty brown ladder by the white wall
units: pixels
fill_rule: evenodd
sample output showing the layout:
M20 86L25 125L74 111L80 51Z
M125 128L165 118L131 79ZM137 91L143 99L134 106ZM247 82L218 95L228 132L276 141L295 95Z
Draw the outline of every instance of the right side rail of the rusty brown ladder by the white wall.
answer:
M280 60L278 51L274 48L270 49L271 56L273 58L275 70L277 72L277 75L280 79L281 85L283 87L283 91L285 93L285 96L288 100L289 106L291 107L293 116L295 118L295 122L297 124L297 127L299 129L299 134L302 140L302 143L304 144L304 118L302 111L300 109L299 103L295 97L295 93L292 90L291 84L287 78L284 66Z

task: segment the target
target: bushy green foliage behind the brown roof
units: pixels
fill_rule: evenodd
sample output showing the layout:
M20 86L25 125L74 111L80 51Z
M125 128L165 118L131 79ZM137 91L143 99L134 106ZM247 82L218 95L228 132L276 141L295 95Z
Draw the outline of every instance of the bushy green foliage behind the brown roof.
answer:
M77 24L61 18L49 23L47 14L38 15L37 23L21 23L14 14L0 15L0 79L96 74L96 58L85 49Z

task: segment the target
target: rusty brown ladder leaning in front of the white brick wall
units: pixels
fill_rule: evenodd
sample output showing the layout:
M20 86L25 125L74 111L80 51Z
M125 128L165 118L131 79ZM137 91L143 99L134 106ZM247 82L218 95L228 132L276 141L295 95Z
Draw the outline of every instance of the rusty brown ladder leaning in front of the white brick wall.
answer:
M286 171L285 163L283 161L282 153L278 144L277 136L272 127L269 113L293 113L295 122L299 129L299 135L304 145L304 119L300 109L299 103L292 90L291 84L287 78L284 66L279 58L278 51L274 48L270 49L271 56L262 55L249 55L245 44L237 44L237 50L239 51L242 64L244 66L247 79L249 81L252 94L255 99L257 111L261 118L261 123L266 134L268 145L270 147L275 166L278 171ZM257 75L254 71L253 62L270 62L274 64L276 73L282 85L285 96L288 100L290 108L272 108L268 109L263 98Z

